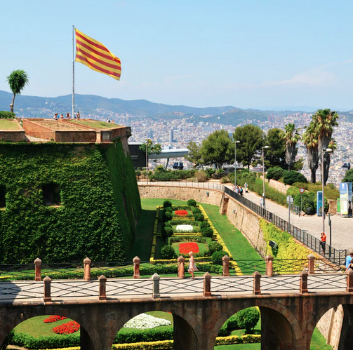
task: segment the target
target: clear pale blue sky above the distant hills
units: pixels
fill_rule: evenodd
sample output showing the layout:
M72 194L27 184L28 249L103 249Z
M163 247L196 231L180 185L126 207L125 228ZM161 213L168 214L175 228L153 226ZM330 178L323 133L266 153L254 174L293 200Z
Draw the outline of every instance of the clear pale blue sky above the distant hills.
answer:
M72 26L121 59L75 63L75 92L168 105L353 109L350 0L1 0L0 90L72 93Z

